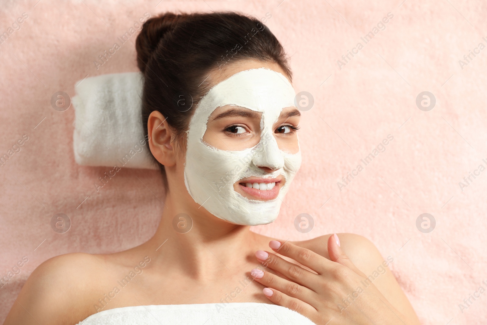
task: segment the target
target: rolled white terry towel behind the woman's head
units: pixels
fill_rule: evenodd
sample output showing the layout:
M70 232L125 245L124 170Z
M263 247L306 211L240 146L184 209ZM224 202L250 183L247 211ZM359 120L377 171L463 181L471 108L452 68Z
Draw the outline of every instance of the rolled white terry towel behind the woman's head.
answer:
M73 147L85 166L157 170L142 126L140 72L88 77L76 82Z

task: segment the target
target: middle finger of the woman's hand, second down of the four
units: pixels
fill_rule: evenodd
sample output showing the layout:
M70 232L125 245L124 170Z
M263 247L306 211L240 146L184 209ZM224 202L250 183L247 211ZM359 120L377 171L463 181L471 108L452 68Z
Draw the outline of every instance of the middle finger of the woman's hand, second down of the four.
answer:
M289 281L296 282L301 286L313 290L313 285L317 283L317 276L307 269L301 268L299 265L286 261L282 257L269 253L264 250L258 250L255 257L261 262L265 268L271 268L278 271ZM313 290L314 291L314 290Z

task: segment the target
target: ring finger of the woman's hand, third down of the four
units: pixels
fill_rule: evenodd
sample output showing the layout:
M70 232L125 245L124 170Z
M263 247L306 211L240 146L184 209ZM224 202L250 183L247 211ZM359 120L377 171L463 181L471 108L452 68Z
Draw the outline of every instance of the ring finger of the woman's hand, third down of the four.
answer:
M265 287L275 288L286 295L297 298L307 304L316 300L317 293L307 287L303 287L292 281L285 280L280 276L272 274L271 272L262 271L254 268L250 271L250 275L255 281L264 285Z

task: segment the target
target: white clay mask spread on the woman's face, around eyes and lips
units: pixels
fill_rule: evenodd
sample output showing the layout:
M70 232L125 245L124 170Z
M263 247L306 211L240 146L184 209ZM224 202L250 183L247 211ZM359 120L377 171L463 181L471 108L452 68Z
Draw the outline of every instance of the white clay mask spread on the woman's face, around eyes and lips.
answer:
M295 106L295 96L287 78L267 68L241 71L209 90L196 107L187 131L184 179L196 203L216 217L239 225L263 225L276 220L284 195L300 168L301 154L279 149L273 124L283 108ZM225 151L203 142L209 116L225 105L262 112L261 139L256 146ZM266 173L257 166L276 171ZM233 187L245 177L274 178L280 174L285 183L273 200L250 200Z

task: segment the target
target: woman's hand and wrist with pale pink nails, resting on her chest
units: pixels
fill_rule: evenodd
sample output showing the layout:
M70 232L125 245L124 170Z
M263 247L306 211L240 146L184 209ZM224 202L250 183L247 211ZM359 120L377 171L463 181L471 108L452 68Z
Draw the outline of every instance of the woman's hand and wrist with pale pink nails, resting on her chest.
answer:
M405 325L397 311L340 249L336 234L328 238L330 259L289 242L269 242L275 252L287 256L316 273L288 262L276 254L259 250L262 265L284 277L257 268L255 281L266 288L264 295L274 304L295 310L314 323Z

